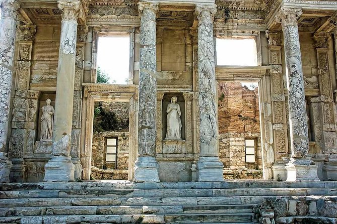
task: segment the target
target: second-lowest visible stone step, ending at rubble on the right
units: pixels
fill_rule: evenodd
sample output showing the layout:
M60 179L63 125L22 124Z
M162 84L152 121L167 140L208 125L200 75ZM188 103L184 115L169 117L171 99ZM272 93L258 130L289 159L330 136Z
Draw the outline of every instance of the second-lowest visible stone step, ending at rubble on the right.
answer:
M0 216L252 213L253 205L146 205L1 207Z

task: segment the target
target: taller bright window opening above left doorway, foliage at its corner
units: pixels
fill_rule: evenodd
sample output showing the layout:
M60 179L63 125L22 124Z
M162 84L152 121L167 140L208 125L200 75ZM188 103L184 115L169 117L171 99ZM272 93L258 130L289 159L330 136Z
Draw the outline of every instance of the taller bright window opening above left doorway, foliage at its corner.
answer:
M129 35L99 37L97 46L97 83L129 84L129 60Z

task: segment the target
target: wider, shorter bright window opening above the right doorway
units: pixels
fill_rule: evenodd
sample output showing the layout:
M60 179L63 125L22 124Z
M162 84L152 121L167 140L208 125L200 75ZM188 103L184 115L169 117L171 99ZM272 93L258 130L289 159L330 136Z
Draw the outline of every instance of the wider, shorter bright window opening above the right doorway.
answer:
M216 50L217 65L258 65L256 41L253 38L217 38Z

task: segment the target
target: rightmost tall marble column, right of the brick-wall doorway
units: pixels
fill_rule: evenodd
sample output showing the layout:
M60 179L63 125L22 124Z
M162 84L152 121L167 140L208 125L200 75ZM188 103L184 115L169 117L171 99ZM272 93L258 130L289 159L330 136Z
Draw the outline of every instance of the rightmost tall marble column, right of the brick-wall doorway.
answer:
M301 9L283 7L277 17L284 35L289 103L291 160L286 165L287 181L318 181L317 165L308 157L308 124L297 25L301 14Z

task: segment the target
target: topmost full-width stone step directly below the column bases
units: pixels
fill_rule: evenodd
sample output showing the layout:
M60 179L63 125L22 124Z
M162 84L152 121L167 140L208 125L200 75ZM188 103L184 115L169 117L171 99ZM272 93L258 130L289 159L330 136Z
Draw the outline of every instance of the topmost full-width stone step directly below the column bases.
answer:
M71 182L3 183L0 190L100 190L100 189L238 189L238 188L337 188L337 181L235 181L226 182Z

